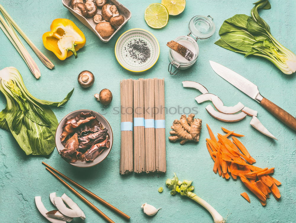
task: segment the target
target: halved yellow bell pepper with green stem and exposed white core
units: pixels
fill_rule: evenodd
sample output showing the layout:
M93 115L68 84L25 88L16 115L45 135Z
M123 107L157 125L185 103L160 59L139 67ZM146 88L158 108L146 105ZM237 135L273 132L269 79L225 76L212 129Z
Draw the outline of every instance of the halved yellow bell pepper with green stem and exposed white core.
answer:
M42 36L43 44L46 49L52 51L57 58L65 60L77 53L86 42L83 32L69 19L54 19L50 25L49 32Z

